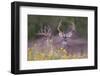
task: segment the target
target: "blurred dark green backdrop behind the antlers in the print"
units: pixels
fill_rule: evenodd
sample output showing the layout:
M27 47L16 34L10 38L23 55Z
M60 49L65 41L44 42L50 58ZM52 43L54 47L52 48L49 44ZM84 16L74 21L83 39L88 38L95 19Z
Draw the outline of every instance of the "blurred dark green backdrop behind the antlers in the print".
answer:
M76 31L80 37L87 38L88 18L87 17L73 17L73 16L46 16L46 15L28 15L28 40L35 39L41 26L49 25L54 35L57 34L57 26L62 19L61 30L66 31L73 22Z

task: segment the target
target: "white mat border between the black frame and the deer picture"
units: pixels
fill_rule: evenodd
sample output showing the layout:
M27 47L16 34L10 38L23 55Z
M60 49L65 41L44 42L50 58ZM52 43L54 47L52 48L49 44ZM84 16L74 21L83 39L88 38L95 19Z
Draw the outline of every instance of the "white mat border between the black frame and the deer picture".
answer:
M88 59L27 61L27 15L88 17ZM20 70L94 65L94 11L42 7L20 7Z

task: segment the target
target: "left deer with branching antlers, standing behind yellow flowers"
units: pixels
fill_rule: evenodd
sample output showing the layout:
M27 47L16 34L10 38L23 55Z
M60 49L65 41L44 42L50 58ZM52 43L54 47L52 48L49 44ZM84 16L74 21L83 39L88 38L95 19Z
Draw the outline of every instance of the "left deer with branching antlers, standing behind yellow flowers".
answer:
M52 30L49 25L41 26L40 31L37 33L39 36L43 36L46 39L46 45L48 51L53 53L53 39L52 39Z

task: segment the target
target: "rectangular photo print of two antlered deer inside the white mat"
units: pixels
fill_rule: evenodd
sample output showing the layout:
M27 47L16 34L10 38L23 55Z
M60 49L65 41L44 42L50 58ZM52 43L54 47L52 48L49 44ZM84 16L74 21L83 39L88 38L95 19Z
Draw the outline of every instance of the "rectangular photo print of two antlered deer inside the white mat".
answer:
M27 60L88 58L87 17L28 15Z

